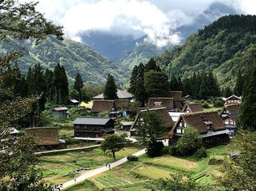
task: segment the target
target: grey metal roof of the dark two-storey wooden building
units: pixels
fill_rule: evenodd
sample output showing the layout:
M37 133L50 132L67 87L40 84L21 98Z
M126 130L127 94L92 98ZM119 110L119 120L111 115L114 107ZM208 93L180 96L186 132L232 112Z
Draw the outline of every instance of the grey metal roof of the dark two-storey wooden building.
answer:
M105 125L110 121L110 117L77 117L72 122L73 125Z

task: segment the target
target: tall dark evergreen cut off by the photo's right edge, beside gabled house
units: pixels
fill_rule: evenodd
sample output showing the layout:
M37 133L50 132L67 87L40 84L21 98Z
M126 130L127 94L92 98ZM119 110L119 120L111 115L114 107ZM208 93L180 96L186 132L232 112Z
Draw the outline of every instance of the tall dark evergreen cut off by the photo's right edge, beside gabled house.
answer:
M250 73L248 85L243 91L239 108L238 127L240 129L256 130L256 64Z

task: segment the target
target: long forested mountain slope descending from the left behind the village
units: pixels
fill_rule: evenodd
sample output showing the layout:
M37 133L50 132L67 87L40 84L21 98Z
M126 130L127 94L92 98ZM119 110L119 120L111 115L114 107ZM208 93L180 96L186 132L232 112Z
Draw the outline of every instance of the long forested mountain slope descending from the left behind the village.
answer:
M57 40L49 36L39 45L34 45L30 40L0 40L0 56L20 49L24 57L20 58L18 65L23 73L36 63L41 63L44 69L53 69L59 62L65 67L69 83L74 81L78 72L88 84L105 84L108 74L114 76L115 82L123 84L129 75L129 70L103 57L89 46L73 40Z

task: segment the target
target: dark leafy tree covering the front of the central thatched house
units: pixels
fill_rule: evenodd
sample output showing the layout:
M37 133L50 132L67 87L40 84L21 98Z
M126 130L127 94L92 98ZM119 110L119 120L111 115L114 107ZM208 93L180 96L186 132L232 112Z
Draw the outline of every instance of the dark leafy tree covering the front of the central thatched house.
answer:
M154 111L141 112L141 119L136 126L139 141L143 146L162 138L165 128L162 124L162 116Z

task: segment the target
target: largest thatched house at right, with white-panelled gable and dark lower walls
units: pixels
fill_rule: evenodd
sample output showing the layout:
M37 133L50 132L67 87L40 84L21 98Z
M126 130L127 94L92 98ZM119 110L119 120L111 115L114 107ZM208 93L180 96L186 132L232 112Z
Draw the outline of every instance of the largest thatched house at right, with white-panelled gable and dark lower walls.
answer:
M167 138L169 144L174 145L184 134L184 129L192 126L201 134L205 147L218 146L229 142L229 130L223 125L223 121L216 111L191 112L180 115L176 124L172 127Z

